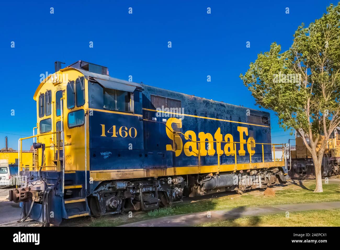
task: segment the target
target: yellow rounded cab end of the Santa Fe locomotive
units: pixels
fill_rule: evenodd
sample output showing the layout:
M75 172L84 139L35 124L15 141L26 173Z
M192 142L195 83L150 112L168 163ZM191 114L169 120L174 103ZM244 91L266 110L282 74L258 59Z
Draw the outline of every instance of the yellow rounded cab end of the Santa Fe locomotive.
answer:
M41 82L34 94L37 103L38 134L61 131L62 122L64 124L65 172L85 170L84 148L87 131L84 124L88 113L86 86L87 80L82 73L73 68L64 68ZM62 146L58 145L60 142L58 136L61 134L38 137L37 142L45 144L45 156L44 159L38 157L37 166L60 171L56 165L57 149ZM38 155L41 155L41 151L42 149L39 148ZM59 158L61 157L62 152L59 154Z

